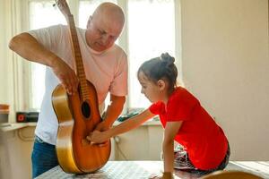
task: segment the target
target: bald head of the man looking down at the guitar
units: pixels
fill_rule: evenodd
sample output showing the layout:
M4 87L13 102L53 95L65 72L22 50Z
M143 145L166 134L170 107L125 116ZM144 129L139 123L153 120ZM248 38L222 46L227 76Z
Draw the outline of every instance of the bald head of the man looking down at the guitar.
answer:
M117 4L100 4L87 23L86 41L96 51L114 45L125 23L125 15Z

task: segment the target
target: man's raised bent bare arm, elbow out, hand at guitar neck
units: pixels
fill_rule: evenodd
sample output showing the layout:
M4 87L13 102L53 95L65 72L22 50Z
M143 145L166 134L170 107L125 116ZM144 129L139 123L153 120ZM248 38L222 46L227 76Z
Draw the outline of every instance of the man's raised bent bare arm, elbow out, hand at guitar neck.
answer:
M60 57L49 51L42 44L39 44L38 40L29 33L22 33L13 37L9 47L31 62L51 67L69 94L77 90L78 81L74 70Z

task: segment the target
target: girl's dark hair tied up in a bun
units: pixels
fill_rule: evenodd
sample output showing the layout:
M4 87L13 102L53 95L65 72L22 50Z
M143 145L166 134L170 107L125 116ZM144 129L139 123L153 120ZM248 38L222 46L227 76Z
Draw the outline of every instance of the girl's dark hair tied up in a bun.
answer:
M141 64L137 76L139 72L143 72L146 78L150 81L168 81L169 92L171 92L177 86L178 77L178 69L174 62L175 58L168 53L161 54L160 57L152 58Z

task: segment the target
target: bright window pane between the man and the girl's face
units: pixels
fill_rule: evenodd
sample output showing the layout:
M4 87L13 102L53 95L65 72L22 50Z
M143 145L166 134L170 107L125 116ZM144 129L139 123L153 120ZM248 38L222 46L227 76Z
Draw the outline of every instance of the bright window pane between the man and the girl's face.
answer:
M137 13L139 10L139 13ZM129 0L129 107L149 107L136 78L140 64L163 52L175 54L175 18L173 0Z

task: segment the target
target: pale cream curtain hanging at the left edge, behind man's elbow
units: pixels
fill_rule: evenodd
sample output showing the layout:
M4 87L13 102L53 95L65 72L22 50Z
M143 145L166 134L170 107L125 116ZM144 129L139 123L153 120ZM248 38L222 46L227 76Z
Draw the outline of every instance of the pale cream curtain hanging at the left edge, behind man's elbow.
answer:
M0 48L0 103L10 106L9 122L15 122L15 112L29 108L28 65L9 48L10 39L27 27L27 18L22 11L27 11L26 0L1 0L1 48Z

